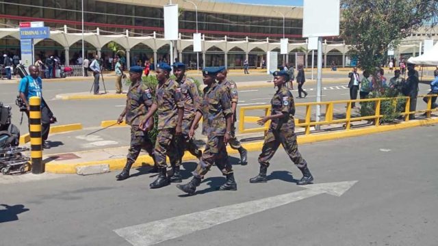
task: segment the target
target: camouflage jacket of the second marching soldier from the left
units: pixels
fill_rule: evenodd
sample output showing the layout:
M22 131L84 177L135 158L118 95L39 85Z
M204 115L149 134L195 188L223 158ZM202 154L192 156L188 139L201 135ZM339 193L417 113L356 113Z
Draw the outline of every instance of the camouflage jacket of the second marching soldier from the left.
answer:
M178 122L178 108L184 108L183 95L179 84L168 79L156 90L158 130L175 128Z

